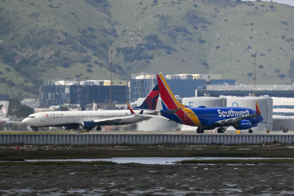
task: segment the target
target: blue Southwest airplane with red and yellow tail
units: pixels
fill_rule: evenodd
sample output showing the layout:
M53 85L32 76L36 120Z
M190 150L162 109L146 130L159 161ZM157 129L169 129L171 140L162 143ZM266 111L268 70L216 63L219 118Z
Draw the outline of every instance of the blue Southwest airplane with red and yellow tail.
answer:
M249 133L252 133L251 128L257 127L258 123L263 121L257 102L256 110L243 107L189 107L176 100L161 74L157 74L157 81L163 110L148 110L161 114L161 116L154 117L164 118L167 121L172 120L183 125L196 126L198 127L197 133L204 133L204 130L215 128L218 128L218 133L224 133L224 127L229 126L233 126L237 130L248 129ZM135 115L150 116L148 114Z

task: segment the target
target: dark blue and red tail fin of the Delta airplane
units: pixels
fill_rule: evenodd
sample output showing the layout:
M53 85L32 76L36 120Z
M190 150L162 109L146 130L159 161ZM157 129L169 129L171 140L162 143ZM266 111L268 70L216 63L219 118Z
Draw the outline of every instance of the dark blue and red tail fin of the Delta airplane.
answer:
M147 95L145 100L141 105L136 107L136 109L148 109L148 110L155 110L157 101L159 97L159 87L158 83L152 88L150 93Z

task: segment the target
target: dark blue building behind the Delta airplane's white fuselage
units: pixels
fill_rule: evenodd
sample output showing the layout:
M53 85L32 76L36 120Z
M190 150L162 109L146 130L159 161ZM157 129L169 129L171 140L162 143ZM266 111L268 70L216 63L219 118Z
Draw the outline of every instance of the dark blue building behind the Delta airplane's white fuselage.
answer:
M127 85L112 85L112 102L126 103L128 101ZM80 81L75 80L45 80L40 85L40 108L53 105L79 104L81 106L93 103L110 102L110 81Z

